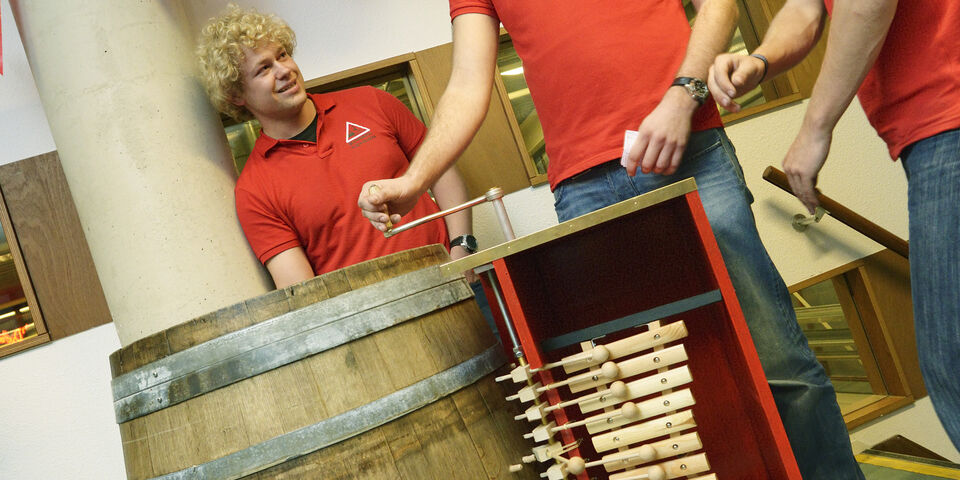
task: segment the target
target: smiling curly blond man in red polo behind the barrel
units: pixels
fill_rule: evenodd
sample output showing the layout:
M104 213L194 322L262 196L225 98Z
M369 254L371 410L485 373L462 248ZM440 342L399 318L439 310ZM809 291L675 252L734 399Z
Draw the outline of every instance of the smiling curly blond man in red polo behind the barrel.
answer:
M291 57L295 43L282 20L231 6L204 27L198 47L217 108L256 118L263 128L237 181L236 206L277 288L450 239L452 257L470 253L467 211L389 240L355 214L355 192L369 179L402 174L426 129L400 101L372 87L307 94ZM444 208L467 200L455 170L432 191ZM413 211L420 217L439 208L423 194Z

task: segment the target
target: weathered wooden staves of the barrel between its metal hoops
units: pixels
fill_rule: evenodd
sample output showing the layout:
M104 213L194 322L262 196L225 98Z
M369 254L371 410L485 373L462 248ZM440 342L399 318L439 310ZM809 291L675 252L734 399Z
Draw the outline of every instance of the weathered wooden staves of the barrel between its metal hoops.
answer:
M284 313L308 304L310 296L330 298L406 273L384 273L389 268L413 271L447 258L442 250L403 253L386 267L373 262L281 291L285 302L275 292L195 319L188 322L192 336L181 325L144 339L136 344L144 354L115 354L121 360L115 372L229 333L211 318L232 318L223 323L229 328L272 318L255 321L247 308L252 303L272 309L272 315ZM122 423L128 476L154 478L312 425L468 360L494 342L476 305L461 301ZM513 420L516 408L503 395L490 375L367 433L245 478L523 478L508 473L507 466L529 449L522 438L525 425Z

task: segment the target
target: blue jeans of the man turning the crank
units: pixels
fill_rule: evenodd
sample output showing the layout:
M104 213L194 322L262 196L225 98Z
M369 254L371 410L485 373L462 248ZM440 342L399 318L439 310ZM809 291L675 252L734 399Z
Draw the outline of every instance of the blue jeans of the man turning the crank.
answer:
M694 177L740 307L806 480L863 479L833 385L807 345L787 287L754 223L753 196L722 129L690 136L679 170L627 175L619 160L571 177L554 191L560 221Z

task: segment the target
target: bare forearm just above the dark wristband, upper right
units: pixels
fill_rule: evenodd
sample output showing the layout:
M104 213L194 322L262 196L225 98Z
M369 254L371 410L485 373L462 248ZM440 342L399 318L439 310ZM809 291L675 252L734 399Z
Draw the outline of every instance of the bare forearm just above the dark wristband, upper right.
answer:
M753 51L767 59L766 78L803 61L820 39L826 18L823 0L787 0L770 22L763 43Z

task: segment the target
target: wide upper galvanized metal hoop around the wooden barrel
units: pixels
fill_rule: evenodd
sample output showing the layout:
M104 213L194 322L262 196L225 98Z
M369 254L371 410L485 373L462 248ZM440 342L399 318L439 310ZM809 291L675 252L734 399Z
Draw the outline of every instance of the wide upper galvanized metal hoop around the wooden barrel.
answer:
M299 361L473 296L437 266L285 313L114 378L117 423Z

